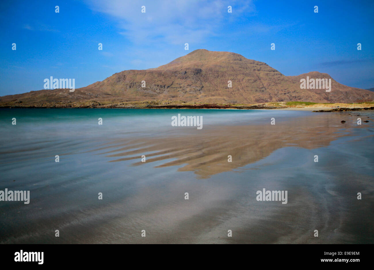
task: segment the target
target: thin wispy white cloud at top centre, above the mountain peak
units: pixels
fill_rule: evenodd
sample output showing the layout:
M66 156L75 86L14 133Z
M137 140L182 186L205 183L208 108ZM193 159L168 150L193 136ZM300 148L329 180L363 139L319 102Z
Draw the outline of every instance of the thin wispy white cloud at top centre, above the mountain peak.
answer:
M135 44L200 43L217 35L227 20L254 13L252 0L86 0L95 12L117 20L119 33ZM233 13L227 12L231 5ZM145 13L141 7L145 6Z

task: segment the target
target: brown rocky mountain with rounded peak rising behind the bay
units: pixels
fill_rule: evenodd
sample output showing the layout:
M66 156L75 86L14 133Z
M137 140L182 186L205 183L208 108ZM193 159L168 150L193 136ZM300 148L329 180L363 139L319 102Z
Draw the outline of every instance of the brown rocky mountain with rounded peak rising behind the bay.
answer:
M373 99L374 93L344 86L331 78L331 91L300 89L300 79L330 79L330 75L309 72L285 76L266 63L231 52L194 50L172 62L146 70L125 70L89 86L31 91L3 96L0 106L69 106L69 103L119 103L144 100L196 103L261 103L305 101L352 103ZM145 87L141 87L141 81ZM228 81L232 87L228 87ZM119 103L121 104L121 103ZM123 104L123 103L122 103ZM83 106L83 105L82 105Z

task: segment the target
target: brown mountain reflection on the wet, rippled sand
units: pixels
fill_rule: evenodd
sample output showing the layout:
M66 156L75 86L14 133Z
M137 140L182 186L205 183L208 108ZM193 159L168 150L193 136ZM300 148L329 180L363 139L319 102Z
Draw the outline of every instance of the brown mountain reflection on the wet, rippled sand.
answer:
M338 119L319 115L275 125L269 121L263 125L214 127L188 136L126 140L96 150L114 148L101 152L116 158L110 162L137 160L133 165L138 166L142 164L140 156L146 155L146 162L165 161L156 168L184 165L179 171L194 171L198 178L209 178L257 162L283 147L328 146L337 137L349 134L349 124L343 126ZM232 162L227 161L228 155Z

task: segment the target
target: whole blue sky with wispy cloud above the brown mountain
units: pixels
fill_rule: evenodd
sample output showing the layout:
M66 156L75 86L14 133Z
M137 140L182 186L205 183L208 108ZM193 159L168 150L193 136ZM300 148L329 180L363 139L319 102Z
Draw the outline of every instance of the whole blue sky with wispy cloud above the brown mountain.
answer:
M374 87L372 0L2 1L0 25L0 96L41 90L50 76L75 78L79 88L195 49L239 53L288 76L319 71Z

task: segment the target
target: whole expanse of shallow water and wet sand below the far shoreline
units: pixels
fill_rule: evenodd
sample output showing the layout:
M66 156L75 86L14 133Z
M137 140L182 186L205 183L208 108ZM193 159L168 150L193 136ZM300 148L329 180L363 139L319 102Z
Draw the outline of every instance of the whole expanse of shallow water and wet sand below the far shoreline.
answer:
M172 127L178 113L202 116L203 128ZM0 242L373 243L373 119L373 111L0 109L0 190L31 197L0 201ZM288 203L257 201L263 188L287 190Z

